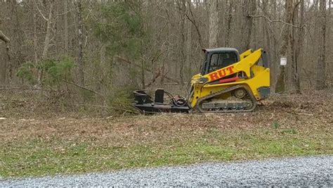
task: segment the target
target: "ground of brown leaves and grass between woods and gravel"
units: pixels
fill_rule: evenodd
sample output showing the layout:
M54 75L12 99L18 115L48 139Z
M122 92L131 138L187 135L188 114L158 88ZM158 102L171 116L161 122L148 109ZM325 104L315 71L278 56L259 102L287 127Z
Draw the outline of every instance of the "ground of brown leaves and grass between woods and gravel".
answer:
M331 155L332 111L331 92L273 96L254 113L32 119L10 108L0 113L0 176Z

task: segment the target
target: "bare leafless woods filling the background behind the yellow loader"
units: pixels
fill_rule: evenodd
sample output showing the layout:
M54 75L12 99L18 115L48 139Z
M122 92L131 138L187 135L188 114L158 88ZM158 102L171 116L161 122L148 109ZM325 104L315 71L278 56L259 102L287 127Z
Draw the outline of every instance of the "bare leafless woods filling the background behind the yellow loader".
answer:
M266 49L272 91L325 89L332 22L330 0L1 0L0 83L105 101L185 85L202 49L226 46Z

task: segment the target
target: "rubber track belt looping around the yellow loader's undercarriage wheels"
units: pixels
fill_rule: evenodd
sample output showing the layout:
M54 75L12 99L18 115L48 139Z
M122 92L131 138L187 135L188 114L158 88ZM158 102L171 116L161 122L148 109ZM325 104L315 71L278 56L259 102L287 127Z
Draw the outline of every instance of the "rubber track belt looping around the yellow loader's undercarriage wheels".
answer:
M244 88L245 91L247 91L247 94L249 95L249 97L250 97L250 99L251 99L251 101L252 101L252 104L253 104L252 108L247 109L247 110L242 109L242 110L228 110L228 111L204 111L204 110L202 110L202 108L200 107L200 105L202 104L202 102L203 102L204 100L211 99L211 98L213 98L214 96L218 96L218 95L220 95L220 94L225 94L225 93L227 93L227 92L232 92L233 90L235 90L235 89L239 89L239 88ZM251 112L251 111L254 111L254 108L256 108L256 99L254 98L252 92L250 92L249 89L247 89L247 87L244 87L244 86L242 86L242 85L235 85L235 86L233 86L233 87L228 87L227 89L223 89L223 90L221 90L221 91L219 91L219 92L215 92L215 93L213 93L213 94L209 94L209 95L207 95L207 96L204 96L204 97L202 97L201 99L199 99L199 100L197 101L197 109L198 109L198 111L200 111L201 113Z

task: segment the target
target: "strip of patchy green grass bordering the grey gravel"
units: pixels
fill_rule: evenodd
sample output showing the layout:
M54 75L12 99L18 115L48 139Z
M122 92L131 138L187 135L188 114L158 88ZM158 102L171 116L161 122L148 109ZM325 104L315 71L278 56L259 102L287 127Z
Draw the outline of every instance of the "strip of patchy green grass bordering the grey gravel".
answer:
M146 127L141 128L147 130ZM311 131L311 127L299 127L299 130L295 127L254 127L222 131L218 127L209 127L200 133L194 130L176 132L159 139L155 136L138 140L124 138L122 145L118 146L112 137L109 137L109 142L107 139L102 141L90 136L81 139L70 139L64 135L27 137L1 145L0 175L25 177L333 154L332 134L327 132L331 128L317 128L320 129Z

